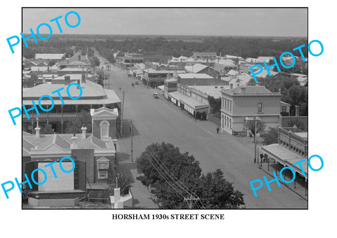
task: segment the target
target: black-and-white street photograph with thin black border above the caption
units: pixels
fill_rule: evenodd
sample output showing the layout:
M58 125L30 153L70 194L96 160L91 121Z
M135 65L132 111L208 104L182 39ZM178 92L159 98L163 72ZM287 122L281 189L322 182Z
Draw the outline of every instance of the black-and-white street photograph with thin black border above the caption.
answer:
M22 8L21 41L22 209L308 209L308 8Z

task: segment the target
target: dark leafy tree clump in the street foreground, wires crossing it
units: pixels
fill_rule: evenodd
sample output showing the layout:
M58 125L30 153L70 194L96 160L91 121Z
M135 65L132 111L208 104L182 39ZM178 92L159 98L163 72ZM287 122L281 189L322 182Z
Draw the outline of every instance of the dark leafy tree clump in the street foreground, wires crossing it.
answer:
M162 169L164 165L165 169ZM172 144L162 142L147 146L137 159L137 168L143 173L137 179L154 186L152 193L160 208L187 208L184 198L191 195L190 191L199 197L206 209L235 209L244 205L243 194L234 190L220 169L201 174L199 162L193 155L180 153ZM170 179L167 172L171 172L175 179ZM178 184L187 187L189 193ZM201 202L194 202L193 208L200 208Z

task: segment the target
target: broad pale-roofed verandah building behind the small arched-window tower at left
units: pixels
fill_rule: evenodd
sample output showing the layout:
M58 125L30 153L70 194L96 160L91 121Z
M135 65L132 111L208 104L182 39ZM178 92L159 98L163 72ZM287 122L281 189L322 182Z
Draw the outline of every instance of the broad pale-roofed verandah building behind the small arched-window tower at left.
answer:
M22 113L23 131L33 134L34 125L37 123L36 118L39 118L40 125L49 123L55 132L63 133L65 131L65 123L79 118L81 110L89 112L91 109L99 109L103 106L107 109L121 109L121 99L119 99L114 90L103 89L101 85L86 80L85 76L82 76L81 80L72 80L70 76L65 76L64 78L64 80L60 80L58 83L40 84L23 90L22 103L25 104L27 110L33 108L34 104L32 101L34 101L36 105L39 105L39 97L44 94L50 95L54 102L51 111L41 111L39 106L37 106L39 115L37 115L36 110L28 111L27 114L29 117L27 117L26 113ZM67 95L66 90L73 81L77 81L83 90L82 96L76 100L71 99ZM64 90L60 91L63 102L60 100L60 97L58 97L58 94L51 93L55 90L59 90L61 87L64 88ZM70 87L69 92L73 96L79 95L77 87ZM51 100L45 97L41 100L41 106L43 106L44 109L50 109L52 106Z

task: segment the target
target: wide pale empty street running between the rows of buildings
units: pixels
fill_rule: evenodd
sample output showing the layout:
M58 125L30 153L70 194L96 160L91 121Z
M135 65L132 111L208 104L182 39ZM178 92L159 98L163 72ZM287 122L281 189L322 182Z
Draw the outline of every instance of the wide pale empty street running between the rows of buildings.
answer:
M210 121L195 122L163 99L154 99L154 89L142 84L132 88L134 78L128 77L126 71L117 66L112 66L111 71L105 72L110 74L109 85L105 87L115 90L120 99L125 92L124 119L133 120L138 132L133 137L133 161L147 145L169 142L178 146L180 151L194 155L199 160L203 173L222 169L225 179L244 193L247 209L308 208L306 200L283 185L278 187L276 182L270 183L271 191L268 191L264 183L263 188L257 190L258 197L253 195L249 182L263 180L263 176L270 181L273 177L253 163L253 143L249 139L233 137L227 133L216 134L216 125ZM134 169L130 158L130 137L120 139L119 148L124 154L123 162ZM131 174L135 177L134 173ZM133 186L142 185L138 182ZM135 198L138 199L136 195ZM146 207L145 204L142 205Z

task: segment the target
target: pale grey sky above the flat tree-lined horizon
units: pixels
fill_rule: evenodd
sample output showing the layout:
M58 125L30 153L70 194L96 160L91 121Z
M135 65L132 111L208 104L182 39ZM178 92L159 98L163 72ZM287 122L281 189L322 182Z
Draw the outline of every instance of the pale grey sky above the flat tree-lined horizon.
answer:
M81 23L70 28L65 14L79 13ZM307 8L24 8L23 33L62 15L63 34L143 34L216 36L308 35ZM70 22L74 20L74 15ZM53 34L60 34L49 22ZM41 27L41 34L49 33Z

